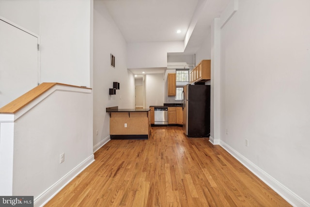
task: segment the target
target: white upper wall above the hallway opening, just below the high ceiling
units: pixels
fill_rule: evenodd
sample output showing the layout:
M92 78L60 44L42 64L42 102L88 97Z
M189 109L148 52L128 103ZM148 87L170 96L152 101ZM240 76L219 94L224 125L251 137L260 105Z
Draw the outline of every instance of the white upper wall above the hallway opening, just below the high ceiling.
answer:
M149 42L127 44L127 67L149 68L167 67L168 52L183 52L184 43L177 42Z

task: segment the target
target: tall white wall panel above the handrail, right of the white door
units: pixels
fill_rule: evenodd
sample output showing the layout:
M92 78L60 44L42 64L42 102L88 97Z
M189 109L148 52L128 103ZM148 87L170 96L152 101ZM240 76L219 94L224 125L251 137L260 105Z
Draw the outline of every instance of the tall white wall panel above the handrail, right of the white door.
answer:
M90 87L91 0L40 0L41 81Z

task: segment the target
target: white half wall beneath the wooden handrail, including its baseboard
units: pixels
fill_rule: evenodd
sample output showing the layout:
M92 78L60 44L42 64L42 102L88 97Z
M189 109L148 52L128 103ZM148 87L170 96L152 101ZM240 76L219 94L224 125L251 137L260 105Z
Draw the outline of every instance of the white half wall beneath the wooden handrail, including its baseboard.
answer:
M32 195L40 206L91 164L92 102L91 89L56 85L15 114L0 114L1 192Z

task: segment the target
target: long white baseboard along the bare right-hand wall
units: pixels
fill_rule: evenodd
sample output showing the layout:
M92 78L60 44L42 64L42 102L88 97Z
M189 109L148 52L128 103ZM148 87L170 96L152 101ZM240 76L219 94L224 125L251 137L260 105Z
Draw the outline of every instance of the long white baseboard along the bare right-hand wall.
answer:
M220 141L221 147L223 147L229 154L235 159L241 162L249 171L258 176L265 184L276 191L282 198L294 207L310 207L310 204L304 199L296 195L293 191L282 185L278 180L264 172L261 168L256 166L253 162L234 150L231 146Z

